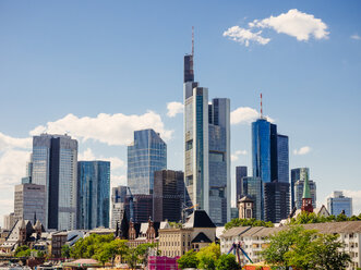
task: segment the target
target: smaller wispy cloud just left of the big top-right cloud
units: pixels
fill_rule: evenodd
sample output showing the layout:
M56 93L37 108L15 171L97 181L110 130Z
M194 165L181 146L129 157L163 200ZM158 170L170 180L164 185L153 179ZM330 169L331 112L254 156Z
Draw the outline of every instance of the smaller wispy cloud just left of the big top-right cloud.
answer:
M266 45L269 42L269 38L264 38L261 36L262 30L251 32L250 29L241 28L239 26L232 26L224 32L224 37L228 37L233 41L240 42L245 47L250 46L250 41Z

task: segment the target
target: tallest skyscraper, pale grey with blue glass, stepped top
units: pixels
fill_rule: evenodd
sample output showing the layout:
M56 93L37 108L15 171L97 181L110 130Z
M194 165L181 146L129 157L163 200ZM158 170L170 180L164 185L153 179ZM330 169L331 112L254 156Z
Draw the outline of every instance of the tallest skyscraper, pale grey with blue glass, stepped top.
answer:
M194 82L193 52L184 57L183 89L186 204L205 210L221 225L230 219L229 99L208 105L208 89Z

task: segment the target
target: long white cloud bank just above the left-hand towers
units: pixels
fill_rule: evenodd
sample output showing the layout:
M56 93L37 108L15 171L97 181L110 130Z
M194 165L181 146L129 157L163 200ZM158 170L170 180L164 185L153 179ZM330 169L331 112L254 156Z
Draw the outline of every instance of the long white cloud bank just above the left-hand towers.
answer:
M168 131L159 114L148 111L142 115L125 115L122 113L99 113L96 118L77 118L68 114L55 122L48 122L46 126L37 126L31 135L40 133L64 134L86 142L94 139L100 143L113 145L129 145L133 142L133 132L137 130L154 128L160 133L164 139L170 139L173 131Z

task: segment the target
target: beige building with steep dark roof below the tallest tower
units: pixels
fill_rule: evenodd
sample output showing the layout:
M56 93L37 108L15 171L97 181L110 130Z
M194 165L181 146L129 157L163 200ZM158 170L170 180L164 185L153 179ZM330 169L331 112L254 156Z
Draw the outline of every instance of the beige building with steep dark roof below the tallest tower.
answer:
M216 240L216 226L204 210L195 210L183 224L159 230L161 256L177 257L209 245Z

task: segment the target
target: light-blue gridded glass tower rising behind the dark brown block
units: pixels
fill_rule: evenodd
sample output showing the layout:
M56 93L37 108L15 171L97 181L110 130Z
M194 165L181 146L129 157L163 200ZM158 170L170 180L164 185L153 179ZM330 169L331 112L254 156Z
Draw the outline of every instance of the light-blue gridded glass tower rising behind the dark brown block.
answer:
M134 132L128 146L128 185L132 194L153 194L154 172L167 169L167 145L153 130Z

